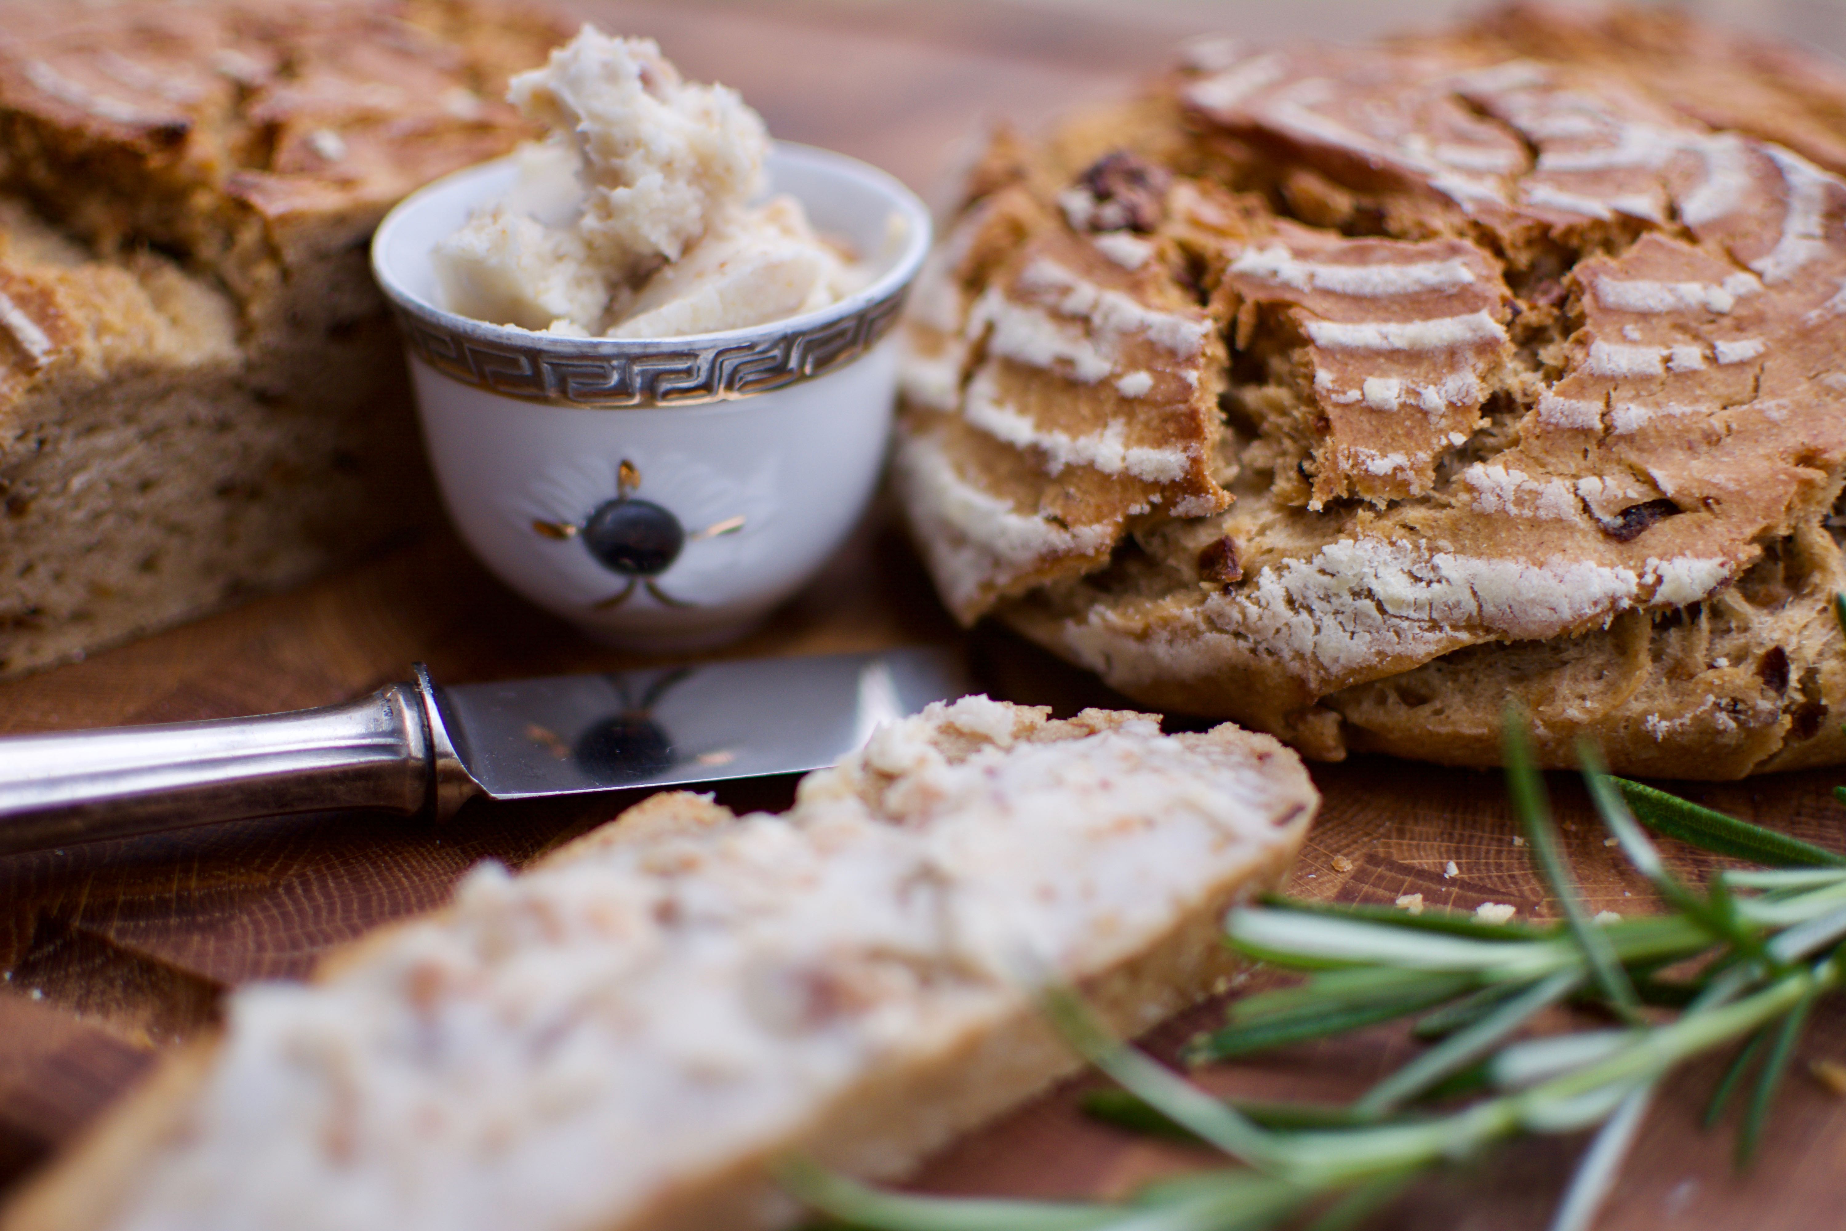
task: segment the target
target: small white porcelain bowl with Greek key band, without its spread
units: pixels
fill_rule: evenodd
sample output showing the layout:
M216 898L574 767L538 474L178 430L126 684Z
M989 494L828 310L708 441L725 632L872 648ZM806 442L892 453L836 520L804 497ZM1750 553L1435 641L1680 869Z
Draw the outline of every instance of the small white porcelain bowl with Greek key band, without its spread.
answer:
M929 251L929 210L823 149L777 142L768 170L818 231L875 262L864 292L659 341L445 312L430 249L513 185L509 159L421 188L373 238L449 517L502 581L602 640L742 635L814 576L877 485L897 382L884 338Z

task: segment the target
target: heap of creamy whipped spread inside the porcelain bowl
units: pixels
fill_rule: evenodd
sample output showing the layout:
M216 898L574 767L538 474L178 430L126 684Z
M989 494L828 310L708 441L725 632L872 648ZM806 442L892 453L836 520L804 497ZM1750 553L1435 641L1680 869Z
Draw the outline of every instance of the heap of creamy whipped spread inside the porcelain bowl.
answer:
M766 188L768 129L722 85L685 81L652 39L594 26L513 78L550 137L513 190L430 253L443 306L574 338L766 325L862 290L868 269Z

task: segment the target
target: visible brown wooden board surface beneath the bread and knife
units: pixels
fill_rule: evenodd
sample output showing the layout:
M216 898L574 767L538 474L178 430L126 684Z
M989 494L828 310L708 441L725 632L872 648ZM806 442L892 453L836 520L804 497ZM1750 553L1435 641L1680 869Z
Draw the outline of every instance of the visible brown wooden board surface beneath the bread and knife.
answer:
M611 30L653 33L694 78L737 85L772 129L881 162L932 194L993 118L1032 127L1085 100L1128 90L1185 33L1229 22L1263 35L1368 33L1453 6L1170 4L574 4ZM1719 6L1724 7L1724 6ZM1785 4L1785 20L1820 22ZM1833 26L1826 26L1833 31ZM408 408L406 408L408 413ZM905 642L969 648L989 690L1063 712L1109 703L1087 677L997 631L962 635L908 544L875 509L827 572L725 655L794 655ZM0 733L251 714L356 696L406 675L438 679L613 670L639 659L594 646L495 583L447 533L87 663L0 685ZM1497 775L1383 759L1314 766L1325 810L1292 891L1429 906L1510 902L1549 917L1514 843ZM1687 794L1752 821L1846 849L1837 775L1807 773ZM785 807L786 781L735 784L733 807ZM1648 910L1645 884L1602 842L1580 790L1552 779L1569 855L1593 908ZM624 799L473 803L436 829L364 814L216 825L133 842L0 858L0 1187L17 1181L142 1076L159 1052L214 1021L225 989L297 978L327 949L430 908L482 858L519 866ZM1672 851L1702 878L1711 860ZM1456 875L1444 875L1449 862ZM1237 995L1233 989L1231 995ZM1202 1006L1148 1041L1167 1050L1215 1021ZM1408 1054L1392 1030L1207 1070L1218 1091L1335 1098ZM1840 1225L1846 1100L1807 1076L1846 1059L1846 1013L1815 1017L1761 1159L1730 1165L1726 1133L1695 1128L1720 1061L1696 1065L1660 1100L1597 1224L1602 1231ZM989 1126L934 1159L917 1185L940 1192L1115 1194L1204 1155L1085 1120L1087 1080ZM1521 1142L1420 1185L1375 1227L1545 1225L1580 1139ZM0 1189L4 1196L4 1189Z

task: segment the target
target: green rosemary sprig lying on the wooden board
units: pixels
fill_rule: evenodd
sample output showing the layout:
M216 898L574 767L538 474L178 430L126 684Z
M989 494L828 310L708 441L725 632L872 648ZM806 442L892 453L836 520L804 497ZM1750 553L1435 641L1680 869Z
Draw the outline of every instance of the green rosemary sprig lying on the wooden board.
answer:
M1416 1176L1506 1137L1600 1126L1551 1224L1586 1231L1660 1080L1733 1043L1737 1058L1706 1118L1715 1122L1743 1094L1737 1161L1748 1163L1809 1011L1846 980L1846 856L1610 777L1584 746L1597 812L1665 906L1597 923L1558 851L1523 718L1510 716L1504 731L1508 788L1562 923L1492 925L1289 899L1226 919L1233 949L1307 978L1235 1002L1226 1026L1194 1039L1187 1059L1242 1058L1414 1017L1414 1034L1432 1045L1351 1106L1215 1098L1054 989L1045 995L1050 1019L1121 1087L1095 1093L1091 1115L1205 1142L1235 1165L1150 1185L1126 1201L914 1196L812 1165L792 1165L788 1187L838 1224L868 1231L1338 1231ZM1720 871L1695 890L1667 869L1648 829L1767 871ZM1597 1006L1613 1024L1523 1037L1564 1000ZM1471 1102L1456 1107L1458 1096Z

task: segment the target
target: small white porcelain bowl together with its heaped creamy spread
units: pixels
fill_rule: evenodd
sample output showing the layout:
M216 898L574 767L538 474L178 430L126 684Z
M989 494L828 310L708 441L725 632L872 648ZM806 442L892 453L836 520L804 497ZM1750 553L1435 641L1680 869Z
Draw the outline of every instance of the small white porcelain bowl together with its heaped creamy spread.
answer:
M548 138L373 234L443 506L591 637L735 639L871 500L929 210L644 39L585 28L511 98Z

